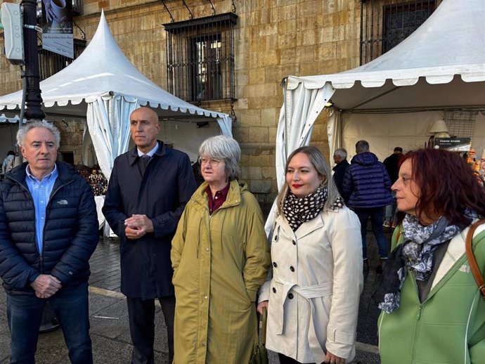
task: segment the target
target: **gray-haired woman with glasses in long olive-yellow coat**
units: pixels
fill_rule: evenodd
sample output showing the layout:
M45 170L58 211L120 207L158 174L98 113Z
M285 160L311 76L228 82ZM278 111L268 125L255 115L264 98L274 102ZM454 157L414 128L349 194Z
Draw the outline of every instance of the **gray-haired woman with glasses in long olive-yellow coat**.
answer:
M257 342L256 294L270 264L261 209L236 180L236 141L209 138L199 155L205 182L172 240L174 364L248 363Z

